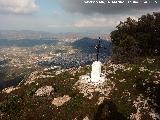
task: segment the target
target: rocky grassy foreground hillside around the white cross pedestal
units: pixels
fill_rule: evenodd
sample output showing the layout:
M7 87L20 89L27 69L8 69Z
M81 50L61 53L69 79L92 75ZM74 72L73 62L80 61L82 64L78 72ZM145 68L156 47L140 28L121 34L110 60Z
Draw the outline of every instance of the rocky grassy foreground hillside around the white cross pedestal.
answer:
M94 86L80 78L90 66L35 71L0 93L2 120L160 119L160 59L103 65L106 81Z

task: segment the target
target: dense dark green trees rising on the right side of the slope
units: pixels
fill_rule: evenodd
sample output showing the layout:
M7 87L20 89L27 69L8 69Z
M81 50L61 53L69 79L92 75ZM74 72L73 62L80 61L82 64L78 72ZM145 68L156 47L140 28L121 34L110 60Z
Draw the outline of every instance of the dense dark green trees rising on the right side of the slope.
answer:
M134 62L138 56L160 55L160 13L142 15L138 21L127 18L111 32L113 58Z

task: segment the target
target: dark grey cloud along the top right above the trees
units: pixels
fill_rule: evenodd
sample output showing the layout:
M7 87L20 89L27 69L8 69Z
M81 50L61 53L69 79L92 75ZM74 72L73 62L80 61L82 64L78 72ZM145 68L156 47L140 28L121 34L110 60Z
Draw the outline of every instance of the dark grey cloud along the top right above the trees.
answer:
M59 0L62 7L72 13L82 14L122 14L129 12L139 12L145 10L157 10L160 9L159 0L96 0L95 3L85 3L88 0ZM90 1L90 0L89 0ZM94 1L94 0L93 0ZM98 1L104 1L104 4L97 3ZM108 3L117 1L117 3ZM119 3L118 1L124 1ZM128 1L131 1L128 3ZM139 3L135 3L138 1ZM148 1L148 3L145 3Z

